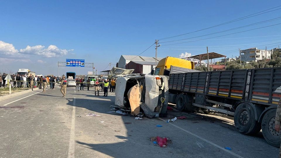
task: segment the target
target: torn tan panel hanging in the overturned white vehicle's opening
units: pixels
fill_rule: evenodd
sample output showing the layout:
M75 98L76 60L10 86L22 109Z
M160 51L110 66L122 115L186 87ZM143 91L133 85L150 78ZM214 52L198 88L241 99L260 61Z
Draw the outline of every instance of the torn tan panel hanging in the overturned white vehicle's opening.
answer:
M127 93L131 106L131 115L140 113L140 86L134 85Z

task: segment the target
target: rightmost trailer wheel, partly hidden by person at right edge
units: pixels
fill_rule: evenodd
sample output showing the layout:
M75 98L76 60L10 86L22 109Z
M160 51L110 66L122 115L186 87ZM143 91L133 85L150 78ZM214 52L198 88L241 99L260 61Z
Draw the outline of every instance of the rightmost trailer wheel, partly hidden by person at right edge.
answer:
M272 146L280 147L280 131L274 129L275 126L276 109L270 109L265 112L263 120L261 121L261 128L264 139Z

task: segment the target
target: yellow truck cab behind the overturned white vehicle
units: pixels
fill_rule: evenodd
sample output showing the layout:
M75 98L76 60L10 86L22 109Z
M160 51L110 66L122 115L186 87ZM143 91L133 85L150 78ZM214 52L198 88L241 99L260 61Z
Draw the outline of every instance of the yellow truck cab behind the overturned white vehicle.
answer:
M194 62L185 59L175 58L172 56L167 56L166 58L161 59L158 62L155 71L152 70L151 74L169 76L169 69L171 66L194 69Z

